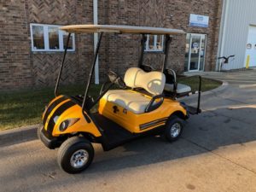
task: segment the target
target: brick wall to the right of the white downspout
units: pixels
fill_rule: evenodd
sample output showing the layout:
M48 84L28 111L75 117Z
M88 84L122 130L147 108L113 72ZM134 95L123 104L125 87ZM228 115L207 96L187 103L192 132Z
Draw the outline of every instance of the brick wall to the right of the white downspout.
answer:
M100 7L104 9L101 9L102 14L99 15L101 24L159 26L183 29L189 33L207 34L205 70L214 70L218 49L222 0L105 0L103 2ZM190 14L208 15L210 17L209 27L190 27ZM128 38L130 38L129 41L126 41ZM138 53L140 51L139 40L139 36L127 36L125 39L112 38L112 42L108 42L108 46L105 47L105 49L108 49L109 54L108 67L113 67L119 73L124 73L127 67L137 66ZM175 69L177 73L183 72L185 44L185 35L173 37L167 66ZM127 54L113 58L112 55L115 55L114 53L116 55L120 55L120 53ZM105 65L104 60L102 62L101 64ZM155 68L160 68L162 62L163 54L160 53L147 53L144 58L145 64L153 65Z

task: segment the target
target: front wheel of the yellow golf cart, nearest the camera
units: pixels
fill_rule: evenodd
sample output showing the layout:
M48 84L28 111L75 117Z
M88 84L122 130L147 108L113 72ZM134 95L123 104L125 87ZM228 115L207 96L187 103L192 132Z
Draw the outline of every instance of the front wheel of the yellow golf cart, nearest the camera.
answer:
M82 152L79 152L82 151ZM74 158L76 153L85 153L87 158L82 166L73 166L72 157ZM77 155L78 155L77 154ZM75 156L73 156L75 155ZM91 143L84 137L71 137L68 138L64 143L61 144L61 148L58 150L58 164L62 170L68 173L79 173L83 172L94 157L94 148ZM74 160L74 159L73 159ZM75 161L75 160L74 160Z

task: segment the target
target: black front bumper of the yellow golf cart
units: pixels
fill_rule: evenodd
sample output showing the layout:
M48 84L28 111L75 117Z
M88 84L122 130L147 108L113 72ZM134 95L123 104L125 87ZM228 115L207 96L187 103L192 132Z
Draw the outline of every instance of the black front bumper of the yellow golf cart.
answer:
M54 149L61 146L62 141L58 137L52 137L44 128L40 131L40 140L47 148Z

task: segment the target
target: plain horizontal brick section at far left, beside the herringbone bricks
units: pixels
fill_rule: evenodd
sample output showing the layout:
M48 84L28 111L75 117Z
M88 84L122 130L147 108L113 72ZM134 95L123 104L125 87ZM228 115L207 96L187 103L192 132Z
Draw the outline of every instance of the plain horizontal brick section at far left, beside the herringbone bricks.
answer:
M0 3L0 88L32 86L25 2Z

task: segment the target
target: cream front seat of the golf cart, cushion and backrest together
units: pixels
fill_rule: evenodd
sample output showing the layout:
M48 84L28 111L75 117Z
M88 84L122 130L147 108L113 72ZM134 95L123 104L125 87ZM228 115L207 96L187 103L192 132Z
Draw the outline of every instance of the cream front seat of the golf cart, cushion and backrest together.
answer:
M131 67L125 73L125 84L131 88L143 88L153 96L162 94L166 76L160 72L145 73L141 68ZM132 90L108 90L102 97L132 113L145 113L151 98Z

